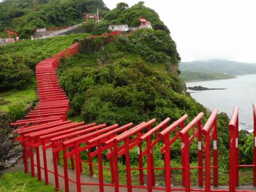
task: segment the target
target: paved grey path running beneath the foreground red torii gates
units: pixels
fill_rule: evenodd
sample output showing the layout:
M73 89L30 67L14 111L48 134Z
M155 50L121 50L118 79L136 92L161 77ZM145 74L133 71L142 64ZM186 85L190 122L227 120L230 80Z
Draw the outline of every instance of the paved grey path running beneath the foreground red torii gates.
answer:
M46 150L47 152L47 166L49 170L54 170L53 168L53 163L52 163L52 151L51 149ZM36 163L36 156L35 158L35 163ZM42 162L43 156L42 156L42 150L40 150L40 163L41 166L43 165ZM30 165L30 163L29 163ZM8 173L8 172L17 172L17 171L23 171L24 170L24 164L22 161L22 158L20 159L19 163L15 164L14 167L7 169L7 170L3 170L1 171L1 173ZM30 170L30 167L29 167ZM63 173L63 166L58 165L58 171L61 175L64 175ZM42 179L44 180L44 170L41 170L42 172ZM35 173L36 173L36 177L37 177L37 169L35 167ZM49 184L54 184L54 174L49 173ZM72 180L76 180L76 171L73 170L68 170L68 178L72 179ZM59 177L59 182L60 182L60 189L62 189L63 191L65 191L65 182L64 179ZM89 177L87 175L81 174L81 182L88 182L88 183L99 183L99 180L93 177ZM176 187L176 186L175 186ZM178 187L178 186L177 186ZM198 187L195 187L198 188ZM99 186L81 186L82 191L84 192L98 192L99 191ZM199 188L200 189L200 188ZM201 188L204 189L204 188ZM227 186L220 186L218 188L214 188L212 187L212 189L228 189ZM104 186L104 192L113 192L115 189L111 186ZM237 188L237 190L250 190L250 191L256 191L256 188L254 188L253 186L239 186L239 188ZM69 191L70 192L76 192L76 184L74 184L73 182L69 182ZM120 192L126 192L127 189L126 188L120 188ZM147 191L147 189L136 189L136 188L132 188L132 192L145 192ZM163 191L163 190L153 190L154 192L159 192L159 191Z

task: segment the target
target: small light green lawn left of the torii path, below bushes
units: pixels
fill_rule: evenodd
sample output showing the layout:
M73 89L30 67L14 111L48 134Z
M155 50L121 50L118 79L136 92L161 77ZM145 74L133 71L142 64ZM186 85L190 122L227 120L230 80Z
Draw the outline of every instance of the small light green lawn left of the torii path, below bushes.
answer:
M26 106L30 106L31 102L37 98L36 96L36 84L33 83L31 86L26 88L26 90L10 90L3 92L0 98L0 112L8 112L8 107L14 104L23 102Z

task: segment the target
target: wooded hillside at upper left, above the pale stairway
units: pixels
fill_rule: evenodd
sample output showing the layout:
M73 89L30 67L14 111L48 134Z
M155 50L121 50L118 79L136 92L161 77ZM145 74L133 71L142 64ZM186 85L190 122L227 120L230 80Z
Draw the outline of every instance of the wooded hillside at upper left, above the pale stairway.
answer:
M0 36L12 28L20 38L30 38L35 28L77 24L83 13L96 13L97 8L101 17L109 11L102 0L5 0L0 3Z

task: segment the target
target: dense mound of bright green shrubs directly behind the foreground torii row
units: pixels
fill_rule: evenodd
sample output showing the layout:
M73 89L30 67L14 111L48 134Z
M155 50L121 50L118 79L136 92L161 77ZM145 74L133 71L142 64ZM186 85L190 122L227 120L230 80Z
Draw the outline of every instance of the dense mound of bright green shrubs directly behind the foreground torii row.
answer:
M182 95L182 86L173 81L172 76L154 72L143 61L121 59L99 68L67 70L60 82L72 109L86 122L138 123L166 116L177 119L186 111L195 116L197 110L204 111L200 104Z

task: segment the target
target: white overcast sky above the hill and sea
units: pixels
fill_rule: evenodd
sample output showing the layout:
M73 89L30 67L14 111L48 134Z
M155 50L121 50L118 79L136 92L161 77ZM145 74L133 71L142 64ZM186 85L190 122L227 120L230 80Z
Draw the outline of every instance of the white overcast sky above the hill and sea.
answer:
M104 0L108 8L119 2ZM182 61L225 59L256 63L255 0L144 0L168 26Z

